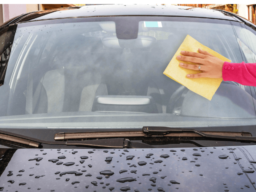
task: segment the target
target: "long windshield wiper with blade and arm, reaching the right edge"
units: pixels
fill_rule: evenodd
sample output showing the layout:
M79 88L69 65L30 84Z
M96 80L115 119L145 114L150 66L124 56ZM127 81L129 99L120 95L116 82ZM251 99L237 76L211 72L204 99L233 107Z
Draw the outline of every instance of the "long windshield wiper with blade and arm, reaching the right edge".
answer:
M193 140L222 140L236 142L254 142L256 137L248 132L214 132L199 131L192 128L170 128L170 127L154 127L144 126L142 130L135 131L105 131L105 132L75 132L75 133L57 133L54 140L73 140L73 139L89 139L89 138L136 138L136 137L171 137L171 138L193 138Z

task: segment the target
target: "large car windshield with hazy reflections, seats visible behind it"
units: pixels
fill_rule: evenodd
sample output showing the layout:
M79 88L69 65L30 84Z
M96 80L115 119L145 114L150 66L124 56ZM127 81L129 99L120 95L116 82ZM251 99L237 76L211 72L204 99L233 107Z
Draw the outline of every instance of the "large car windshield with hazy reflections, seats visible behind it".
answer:
M163 74L187 35L234 63L255 63L256 32L243 23L66 18L20 23L11 32L1 52L2 127L256 124L254 87L222 81L210 101Z

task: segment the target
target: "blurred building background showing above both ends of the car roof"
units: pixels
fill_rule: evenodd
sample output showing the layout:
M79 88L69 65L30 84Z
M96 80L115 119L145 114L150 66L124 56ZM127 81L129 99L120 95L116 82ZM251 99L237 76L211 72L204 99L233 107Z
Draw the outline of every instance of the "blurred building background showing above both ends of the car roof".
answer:
M21 14L55 8L96 5L96 4L0 4L0 24ZM172 4L180 6L193 6L206 9L220 9L236 13L256 24L255 4Z

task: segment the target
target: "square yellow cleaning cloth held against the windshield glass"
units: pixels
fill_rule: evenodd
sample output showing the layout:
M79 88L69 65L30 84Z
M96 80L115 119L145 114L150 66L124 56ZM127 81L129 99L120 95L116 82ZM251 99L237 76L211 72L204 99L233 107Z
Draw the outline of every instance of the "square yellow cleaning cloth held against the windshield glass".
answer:
M201 73L200 71L185 69L179 66L180 62L185 64L195 64L192 62L180 61L176 57L178 55L182 55L181 51L191 51L191 52L198 52L198 48L209 52L215 57L227 62L231 62L231 60L225 58L224 56L218 54L214 50L200 44L197 40L192 38L191 36L187 35L180 47L178 48L177 52L174 54L172 60L164 70L164 74L174 81L184 85L189 90L207 98L208 100L212 99L212 96L220 86L222 82L222 78L187 78L187 74L196 74Z

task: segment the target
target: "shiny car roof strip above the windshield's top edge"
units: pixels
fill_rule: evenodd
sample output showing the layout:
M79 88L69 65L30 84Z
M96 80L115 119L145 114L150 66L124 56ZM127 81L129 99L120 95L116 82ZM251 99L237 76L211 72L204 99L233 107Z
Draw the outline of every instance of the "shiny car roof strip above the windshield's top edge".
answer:
M225 12L205 8L149 4L104 4L36 11L16 19L15 23L91 16L182 16L238 21L235 16Z

